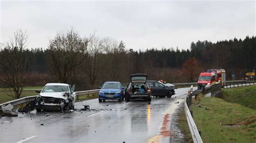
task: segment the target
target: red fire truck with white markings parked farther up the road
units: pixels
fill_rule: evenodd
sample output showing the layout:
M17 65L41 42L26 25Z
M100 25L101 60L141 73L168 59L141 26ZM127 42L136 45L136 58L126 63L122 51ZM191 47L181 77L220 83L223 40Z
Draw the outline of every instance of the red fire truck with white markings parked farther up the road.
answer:
M226 73L224 69L207 69L200 73L198 79L198 89L204 89L214 83L220 83L221 87L225 84Z

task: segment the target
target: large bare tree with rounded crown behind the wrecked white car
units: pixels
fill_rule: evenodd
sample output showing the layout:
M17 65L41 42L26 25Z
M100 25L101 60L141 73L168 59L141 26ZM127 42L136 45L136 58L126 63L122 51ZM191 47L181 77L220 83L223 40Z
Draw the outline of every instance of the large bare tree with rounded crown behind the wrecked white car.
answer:
M87 56L90 38L81 38L72 28L63 34L58 33L49 44L50 73L63 83L73 83Z

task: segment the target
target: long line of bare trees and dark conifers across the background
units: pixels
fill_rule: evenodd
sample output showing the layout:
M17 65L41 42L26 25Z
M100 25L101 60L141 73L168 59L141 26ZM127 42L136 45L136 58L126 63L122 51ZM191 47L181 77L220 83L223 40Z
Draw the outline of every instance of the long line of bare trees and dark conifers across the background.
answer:
M0 50L0 85L14 89L17 95L25 85L48 82L76 84L78 90L86 90L104 81L129 83L134 73L179 83L195 82L202 70L210 68L226 69L227 80L231 74L240 79L256 68L254 36L216 43L192 42L187 50L177 47L146 51L135 51L123 41L99 38L95 33L84 38L73 29L57 33L47 48L28 48L28 39L25 31L18 30Z

